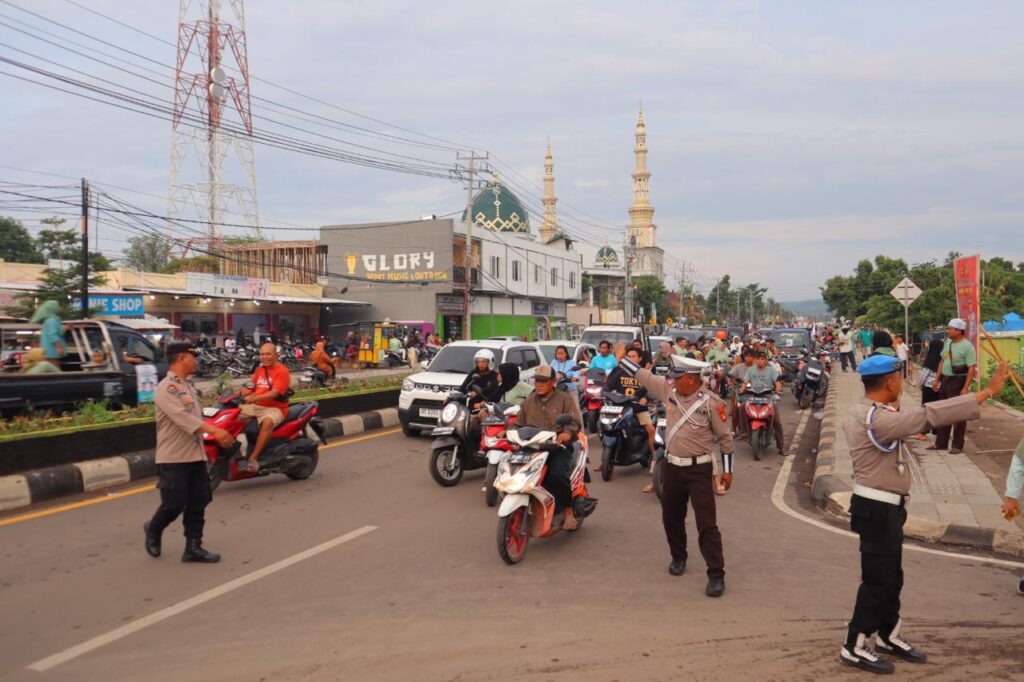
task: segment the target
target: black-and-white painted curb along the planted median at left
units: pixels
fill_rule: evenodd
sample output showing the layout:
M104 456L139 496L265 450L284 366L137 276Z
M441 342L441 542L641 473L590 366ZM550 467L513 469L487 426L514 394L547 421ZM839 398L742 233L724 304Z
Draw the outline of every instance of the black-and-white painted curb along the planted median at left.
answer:
M398 423L397 408L343 417L325 417L324 435L337 438L398 426ZM157 475L155 457L156 453L153 451L131 453L0 476L0 511L151 478Z

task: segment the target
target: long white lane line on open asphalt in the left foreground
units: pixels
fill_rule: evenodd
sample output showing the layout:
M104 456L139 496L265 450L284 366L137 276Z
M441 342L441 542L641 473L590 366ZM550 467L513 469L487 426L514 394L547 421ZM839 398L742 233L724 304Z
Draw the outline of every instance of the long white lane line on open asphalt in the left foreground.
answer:
M132 621L131 623L123 625L120 628L112 630L109 633L105 633L98 637L93 637L90 640L82 642L81 644L76 644L71 648L65 649L63 651L60 651L58 653L54 653L51 656L46 656L45 658L42 658L30 665L29 670L38 671L40 673L48 671L51 668L59 666L60 664L68 663L72 658L77 658L83 653L88 653L89 651L92 651L93 649L98 649L99 647L105 644L110 644L111 642L116 642L117 640L127 637L128 635L131 635L133 633L136 633L139 630L142 630L143 628L148 628L152 625L156 625L162 621L166 621L167 619L177 615L178 613L181 613L183 611L186 611L189 608L193 608L194 606L199 606L200 604L206 603L211 599L216 599L217 597L225 595L228 592L238 590L239 588L249 585L250 583L254 583L260 580L261 578L266 578L267 576L271 576L280 570L284 570L285 568L293 566L296 563L299 563L300 561L305 561L310 557L316 556L317 554L322 554L328 551L329 549L333 549L338 545L343 545L344 543L347 543L350 540L355 540L356 538L365 536L368 532L371 532L376 529L377 529L376 525L365 525L361 528L356 528L351 532L346 532L343 536L335 538L334 540L329 540L326 543L317 545L316 547L311 547L305 551L299 552L298 554L293 554L287 559L282 559L281 561L271 563L269 566L265 566L258 570L254 570L251 573L246 573L245 576L242 576L240 578L236 578L233 581L228 581L223 585L211 588L206 592L202 592L196 595L195 597L189 597L188 599L185 599L184 601L179 601L178 603L172 604L167 608L162 608L156 613L144 615L138 619L137 621Z

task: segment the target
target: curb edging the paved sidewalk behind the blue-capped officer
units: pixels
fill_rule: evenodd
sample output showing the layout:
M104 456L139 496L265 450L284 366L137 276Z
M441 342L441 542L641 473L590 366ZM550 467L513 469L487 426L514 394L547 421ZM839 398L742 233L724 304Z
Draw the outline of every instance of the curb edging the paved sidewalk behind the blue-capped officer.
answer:
M1013 409L1009 408L1009 410ZM848 481L836 473L836 392L828 391L825 398L825 415L821 420L821 436L818 441L818 459L814 465L811 498L814 500L814 504L825 513L848 523L850 514L847 510L850 508L853 489ZM1024 537L1020 534L994 528L941 523L907 515L903 535L926 543L973 547L1014 556L1024 556Z

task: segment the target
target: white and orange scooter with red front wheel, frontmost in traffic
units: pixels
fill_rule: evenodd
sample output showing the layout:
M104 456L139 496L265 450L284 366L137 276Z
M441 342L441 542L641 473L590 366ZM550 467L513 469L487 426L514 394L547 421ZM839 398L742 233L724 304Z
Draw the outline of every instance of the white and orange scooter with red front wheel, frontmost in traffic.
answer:
M560 425L571 422L568 415L560 415L555 421ZM564 514L555 513L555 499L542 485L548 472L549 453L560 450L554 431L542 431L532 427L521 427L509 431L509 441L518 446L498 468L495 487L505 494L498 509L498 554L505 563L519 563L526 556L530 538L549 538L562 529ZM577 527L583 527L584 519L594 513L597 499L587 492L587 453L583 447L586 438L581 437L572 446L572 464L569 481L572 487L572 512Z

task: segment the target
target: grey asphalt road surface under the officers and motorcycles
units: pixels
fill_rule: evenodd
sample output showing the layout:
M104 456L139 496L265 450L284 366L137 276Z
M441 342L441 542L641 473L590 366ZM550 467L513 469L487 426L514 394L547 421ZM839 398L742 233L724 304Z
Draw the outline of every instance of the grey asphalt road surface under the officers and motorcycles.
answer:
M786 411L791 433L800 416ZM801 453L814 444L810 424ZM137 483L123 497L31 510L86 503L50 515L0 516L0 679L863 677L836 660L856 544L801 508L796 475L776 502L784 491L780 504L806 516L773 504L778 456L756 464L745 445L737 451L736 483L719 507L728 589L710 600L692 538L688 572L667 572L659 509L639 493L639 468L594 482L600 505L581 532L538 541L506 566L482 474L438 487L428 444L394 430L365 434L331 443L308 481L225 484L209 509L208 544L224 555L213 566L177 560L179 529L162 559L144 554L140 526L157 495ZM110 501L88 504L97 499ZM250 582L265 568L273 572ZM932 663L901 674L1024 675L1012 566L908 551L905 570L908 635ZM45 672L28 668L61 652Z

